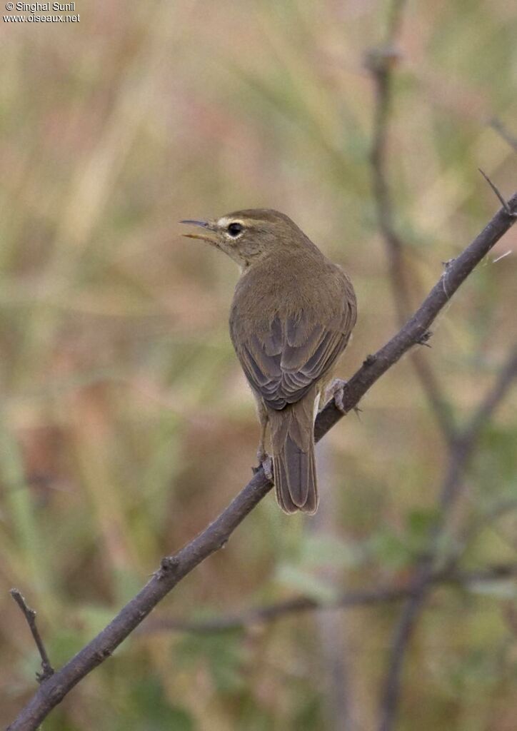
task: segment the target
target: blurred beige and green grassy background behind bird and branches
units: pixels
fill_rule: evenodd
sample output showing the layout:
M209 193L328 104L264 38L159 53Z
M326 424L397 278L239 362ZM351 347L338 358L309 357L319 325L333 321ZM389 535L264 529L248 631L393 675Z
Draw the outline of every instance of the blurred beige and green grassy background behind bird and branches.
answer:
M251 476L258 427L227 333L238 272L177 221L278 208L343 264L359 318L340 376L396 332L365 65L389 7L78 0L79 23L0 24L4 724L39 664L9 589L37 609L59 667ZM478 167L515 189L516 151L491 120L517 134L516 37L503 0L404 12L387 166L415 304L499 208ZM516 339L515 248L509 232L423 353L458 425ZM464 569L516 560L516 406L514 390L456 505L449 538ZM157 626L407 580L447 449L408 357L361 408L322 442L318 515L287 518L267 496L46 731L376 727L399 605L228 632ZM502 581L434 592L397 728L515 728L515 601Z

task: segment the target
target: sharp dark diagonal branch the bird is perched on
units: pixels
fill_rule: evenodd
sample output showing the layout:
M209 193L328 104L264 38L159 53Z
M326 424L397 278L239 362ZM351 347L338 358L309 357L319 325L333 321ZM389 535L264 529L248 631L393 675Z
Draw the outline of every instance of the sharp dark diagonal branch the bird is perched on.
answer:
M513 195L508 205L512 212L517 211L517 193ZM388 368L412 346L422 341L429 325L445 303L514 221L514 217L509 216L502 208L467 249L450 263L426 300L399 333L375 355L367 357L363 366L352 376L344 390L344 411L349 412L353 409ZM343 412L333 401L325 406L317 417L314 427L316 439L321 439L342 416ZM31 700L20 711L18 718L10 725L10 731L37 729L67 693L91 670L104 662L184 576L227 542L235 528L271 490L271 487L271 482L266 479L263 469L257 471L252 480L213 523L174 556L167 556L162 560L161 567L146 586L121 609L94 640L91 640L61 670L41 683Z

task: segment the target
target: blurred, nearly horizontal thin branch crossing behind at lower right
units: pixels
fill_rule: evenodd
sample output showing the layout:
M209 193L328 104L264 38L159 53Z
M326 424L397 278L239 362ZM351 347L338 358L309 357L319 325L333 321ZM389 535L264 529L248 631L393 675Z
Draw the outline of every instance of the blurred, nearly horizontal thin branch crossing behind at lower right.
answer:
M494 566L480 571L436 571L431 576L434 586L459 586L468 588L473 583L483 583L517 576L517 564L494 564ZM266 624L276 619L292 614L312 612L328 609L353 609L355 607L373 607L407 599L414 591L413 583L407 582L403 586L377 586L359 591L347 591L332 602L319 602L307 596L297 599L287 599L285 602L253 607L241 613L229 614L213 619L189 621L185 619L155 619L147 622L142 628L145 635L154 632L229 632L236 629L245 629L253 624Z

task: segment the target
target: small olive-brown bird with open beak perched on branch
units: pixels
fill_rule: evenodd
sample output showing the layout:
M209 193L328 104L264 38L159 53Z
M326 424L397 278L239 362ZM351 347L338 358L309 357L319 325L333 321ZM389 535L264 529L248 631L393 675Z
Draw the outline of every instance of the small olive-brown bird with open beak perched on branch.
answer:
M355 325L352 283L279 211L257 208L181 223L203 227L202 234L186 236L208 241L241 267L230 335L257 401L262 426L257 456L271 477L269 424L276 499L285 512L313 513L314 419L325 394L339 395L343 385L327 390Z

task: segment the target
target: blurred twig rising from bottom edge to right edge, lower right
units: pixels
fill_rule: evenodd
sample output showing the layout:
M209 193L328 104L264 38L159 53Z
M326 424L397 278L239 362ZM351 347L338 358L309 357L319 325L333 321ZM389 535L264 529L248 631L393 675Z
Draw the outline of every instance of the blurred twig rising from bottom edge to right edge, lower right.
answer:
M440 516L431 533L429 550L417 564L412 592L402 610L393 636L388 672L382 692L380 731L390 731L395 723L401 691L401 671L404 658L409 648L417 619L426 603L433 583L434 564L439 556L439 539L445 531L450 509L461 494L461 478L472 456L475 445L478 442L483 425L486 424L491 414L497 409L503 396L510 388L513 379L516 377L517 346L513 346L512 352L510 352L505 366L501 369L496 383L489 390L483 401L481 401L478 409L472 414L469 423L456 439L454 447L450 452L448 469L445 473L439 494ZM449 561L454 564L455 557L450 556Z

